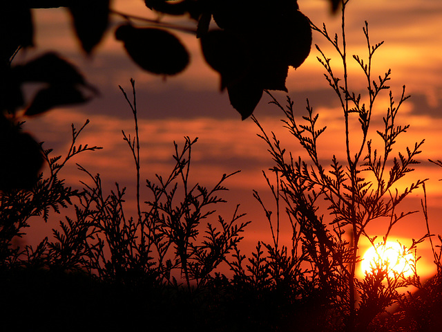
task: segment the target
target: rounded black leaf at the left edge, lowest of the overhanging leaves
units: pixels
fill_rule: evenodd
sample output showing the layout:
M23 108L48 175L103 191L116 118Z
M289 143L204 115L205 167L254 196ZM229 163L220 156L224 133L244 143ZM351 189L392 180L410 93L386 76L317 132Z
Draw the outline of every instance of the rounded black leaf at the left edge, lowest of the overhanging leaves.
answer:
M0 190L30 189L44 162L41 148L28 133L0 122Z

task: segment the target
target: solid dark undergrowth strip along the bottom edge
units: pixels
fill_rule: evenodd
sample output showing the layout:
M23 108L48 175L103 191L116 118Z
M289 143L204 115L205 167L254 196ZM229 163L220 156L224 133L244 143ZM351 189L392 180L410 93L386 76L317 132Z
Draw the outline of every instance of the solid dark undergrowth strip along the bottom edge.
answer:
M410 295L403 311L379 315L365 331L442 331L436 288ZM288 302L222 278L189 291L21 269L1 273L0 294L0 331L344 331L343 320L318 302Z

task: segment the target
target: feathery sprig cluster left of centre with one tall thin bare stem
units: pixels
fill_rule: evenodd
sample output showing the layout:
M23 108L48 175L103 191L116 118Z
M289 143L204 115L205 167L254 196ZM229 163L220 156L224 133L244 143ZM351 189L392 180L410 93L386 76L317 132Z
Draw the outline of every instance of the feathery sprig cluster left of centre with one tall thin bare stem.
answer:
M135 81L131 80L133 101L120 86L126 102L133 112L135 135L123 131L136 169L137 218L124 212L126 188L105 194L99 175L93 176L83 167L93 181L84 185L84 196L77 208L77 223L61 224L63 232L55 231L59 249L68 246L67 238L79 225L86 236L81 243L81 264L99 279L137 287L146 284L180 286L182 281L189 289L200 288L214 277L213 273L227 261L234 248L242 240L241 233L249 224L239 221L244 214L238 206L231 219L218 216L213 223L209 219L215 210L212 205L224 203L218 196L227 190L223 183L233 174L224 174L211 189L189 181L191 150L197 139L186 137L180 149L173 142L175 166L169 176L156 175L156 181L146 180L152 198L141 208L140 197L140 136L137 120ZM200 234L204 229L203 234ZM75 251L71 250L73 255ZM181 277L175 273L180 271ZM181 279L182 278L182 279Z

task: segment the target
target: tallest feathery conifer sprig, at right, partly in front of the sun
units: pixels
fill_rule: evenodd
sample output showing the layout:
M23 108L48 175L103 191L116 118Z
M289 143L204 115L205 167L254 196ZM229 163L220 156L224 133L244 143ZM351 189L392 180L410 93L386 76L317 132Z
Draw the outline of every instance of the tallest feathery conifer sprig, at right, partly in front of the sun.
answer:
M355 93L350 89L348 77L352 73L347 68L345 35L345 9L348 2L342 2L340 36L338 33L330 35L325 24L322 28L318 28L311 23L313 30L332 44L340 60L339 66L342 68L343 76L340 77L336 75L332 59L316 45L320 54L318 62L325 68L325 79L335 92L343 112L345 162L333 156L329 167L320 163L319 142L327 128L320 127L319 115L314 113L309 100L307 100L307 116L301 116L298 120L293 100L287 97L287 106L283 107L267 92L271 97L271 103L283 111L284 127L307 152L308 162L301 157L295 158L291 153L287 154L274 133L269 137L258 120L253 117L253 121L258 125L260 130L258 136L266 142L275 163L271 172L278 174L280 195L286 205L289 222L293 226L293 238L296 239L292 250L296 251L298 243L301 243L302 254L298 254L298 259L310 266L309 282L323 291L325 303L332 305L334 310L343 314L343 329L354 331L354 329L366 329L378 313L398 301L398 288L415 284L418 278L416 273L414 279L406 279L401 274L390 277L382 273L382 268L385 266L381 266L378 267L380 270L372 271L360 282L356 279L356 266L361 260L358 252L361 238L366 237L372 245L375 245L376 237L369 236L367 225L375 219L387 218L387 231L383 237L385 243L392 227L405 216L416 212L398 213L396 212L398 204L410 192L422 187L426 180L418 180L405 190L396 188L397 181L412 172L412 166L418 163L416 156L421 153L423 145L423 140L416 142L412 149L407 147L405 154L398 152L397 157L391 156L396 139L410 127L396 124L398 111L403 102L409 98L405 95L405 86L397 104L390 91L390 102L383 117L384 128L375 131L383 142L383 153L379 153L374 147L372 130L370 130L373 126L372 118L376 116L374 106L378 104L378 96L382 91L390 90L387 83L390 81L391 71L389 69L384 75L378 75L376 79L373 77L372 62L376 50L383 45L383 42L372 44L369 39L368 24L365 21L363 34L367 43L367 59L359 55L354 55L352 59L363 71L367 80L367 89L364 94ZM350 124L354 120L358 121L362 133L359 140L356 140L354 133L350 131L352 128ZM392 161L392 165L387 163L389 160ZM372 176L374 180L369 180L373 178ZM272 187L271 190L274 191ZM260 203L262 205L261 201ZM327 206L331 220L327 221L326 216L320 214L320 205ZM271 215L269 209L265 209L265 213L269 219ZM345 240L345 234L349 234L349 241ZM409 250L414 250L425 237L427 236L413 241ZM269 256L270 252L271 250ZM416 264L416 260L412 263ZM385 281L387 286L383 284ZM368 288L368 285L374 288ZM357 302L356 294L361 292L364 296Z

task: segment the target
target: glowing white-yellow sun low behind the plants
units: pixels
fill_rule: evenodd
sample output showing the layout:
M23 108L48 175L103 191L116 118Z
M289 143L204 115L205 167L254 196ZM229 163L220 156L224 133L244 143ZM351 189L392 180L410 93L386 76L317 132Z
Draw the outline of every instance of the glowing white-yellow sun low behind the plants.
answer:
M413 274L410 263L413 261L413 255L407 253L403 246L397 242L387 241L371 246L364 254L361 261L361 272L371 272L372 268L376 266L383 266L387 268L389 277L394 277L394 274L400 275L403 273L404 277L410 277Z

